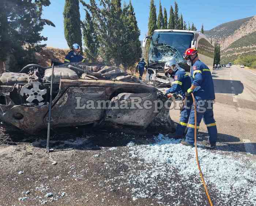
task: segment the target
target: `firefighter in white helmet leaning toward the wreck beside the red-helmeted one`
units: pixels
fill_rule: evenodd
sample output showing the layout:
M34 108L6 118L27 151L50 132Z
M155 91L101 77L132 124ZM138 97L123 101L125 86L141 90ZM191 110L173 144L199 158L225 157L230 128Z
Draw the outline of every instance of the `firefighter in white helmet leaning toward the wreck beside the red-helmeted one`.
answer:
M179 67L176 63L176 60L169 60L165 63L165 74L170 74L174 82L172 83L172 87L166 90L167 97L172 97L174 94L180 94L183 97L183 101L185 99L185 93L188 88L191 86L191 78L185 72L184 69ZM175 138L184 137L185 130L187 128L189 114L191 110L192 100L190 97L187 98L187 101L184 102L184 105L181 109L180 113L180 124L178 124L176 128Z

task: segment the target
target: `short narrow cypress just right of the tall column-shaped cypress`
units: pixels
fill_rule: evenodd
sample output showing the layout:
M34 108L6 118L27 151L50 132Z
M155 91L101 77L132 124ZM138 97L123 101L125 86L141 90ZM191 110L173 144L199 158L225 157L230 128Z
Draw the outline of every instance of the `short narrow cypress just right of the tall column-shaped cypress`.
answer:
M90 62L96 62L98 57L98 37L90 13L86 10L86 19L83 22L84 54Z

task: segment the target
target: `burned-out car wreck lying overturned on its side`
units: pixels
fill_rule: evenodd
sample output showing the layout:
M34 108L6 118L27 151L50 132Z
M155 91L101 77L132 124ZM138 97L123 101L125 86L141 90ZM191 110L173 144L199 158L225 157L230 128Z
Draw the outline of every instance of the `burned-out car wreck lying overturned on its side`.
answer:
M40 65L27 65L19 73L1 75L1 127L30 134L47 128L51 75L52 68ZM173 129L169 108L163 106L167 101L165 96L115 66L99 63L55 66L52 90L52 128L110 123ZM97 105L92 105L95 102ZM157 106L150 107L148 102L156 102ZM147 106L140 107L144 103Z

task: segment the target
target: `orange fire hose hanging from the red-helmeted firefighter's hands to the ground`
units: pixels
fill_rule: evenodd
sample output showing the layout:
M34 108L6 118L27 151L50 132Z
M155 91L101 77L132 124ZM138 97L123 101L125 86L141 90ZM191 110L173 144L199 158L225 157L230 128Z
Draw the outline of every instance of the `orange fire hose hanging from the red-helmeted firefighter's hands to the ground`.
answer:
M197 123L197 119L196 119L196 101L195 101L195 97L194 97L194 94L191 93L192 95L192 98L193 98L193 103L194 103L194 108L195 108L195 149L196 149L196 163L197 163L197 167L198 167L198 170L199 170L199 174L200 174L200 177L201 177L201 180L203 182L203 185L204 185L204 190L206 192L206 195L207 195L207 198L208 198L208 202L210 203L211 206L213 206L213 203L212 203L212 200L211 200L211 196L210 196L210 193L208 191L208 188L207 188L207 185L204 181L204 176L203 176L203 172L201 170L201 167L200 167L200 164L199 164L199 160L198 160L198 152L197 152L197 141L196 141L196 123Z

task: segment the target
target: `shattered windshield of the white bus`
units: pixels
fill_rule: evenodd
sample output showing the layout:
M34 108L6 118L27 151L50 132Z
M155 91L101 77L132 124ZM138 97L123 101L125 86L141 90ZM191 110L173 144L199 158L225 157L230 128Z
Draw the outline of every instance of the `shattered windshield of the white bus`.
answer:
M189 71L182 56L191 46L192 39L193 33L188 32L155 32L150 44L149 63L165 63L175 57L180 67Z

